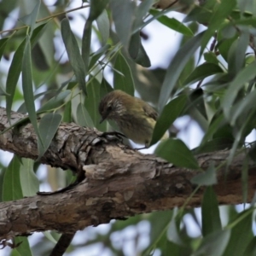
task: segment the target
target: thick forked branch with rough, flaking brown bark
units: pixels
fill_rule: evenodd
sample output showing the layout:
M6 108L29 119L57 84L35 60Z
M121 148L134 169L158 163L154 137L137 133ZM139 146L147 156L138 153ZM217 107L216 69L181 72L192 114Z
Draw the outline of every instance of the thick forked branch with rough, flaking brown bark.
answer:
M22 118L12 113L13 119ZM0 130L8 126L0 108ZM55 195L35 195L0 203L0 240L26 236L35 231L57 230L73 234L89 225L125 219L143 212L181 207L195 185L190 183L201 171L177 168L155 157L141 154L118 139L102 137L101 132L62 124L42 163L74 171L84 169L86 178L73 189ZM32 125L21 125L0 136L0 148L22 157L37 159L37 138ZM222 164L230 152L219 151L197 157L203 170L212 162ZM241 170L246 154L237 154L230 168L218 170L215 191L219 204L242 202ZM84 167L83 167L84 166ZM248 162L248 194L251 201L256 184L256 166ZM201 188L188 207L199 207Z

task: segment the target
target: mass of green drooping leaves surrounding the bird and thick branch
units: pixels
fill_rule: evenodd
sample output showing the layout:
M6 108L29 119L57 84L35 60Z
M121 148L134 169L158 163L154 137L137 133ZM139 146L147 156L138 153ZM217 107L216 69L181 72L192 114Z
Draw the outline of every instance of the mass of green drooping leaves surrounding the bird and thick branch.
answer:
M173 138L157 148L156 154L177 166L196 169L194 154L230 148L229 166L237 150L249 148L253 152L254 142L247 145L246 138L254 131L256 113L255 1L207 0L201 5L188 5L183 22L171 18L174 9L183 8L157 10L152 7L153 0L90 0L83 1L82 6L79 3L76 9L70 9L71 2L55 1L54 6L46 1L0 2L0 29L7 29L1 32L0 60L10 63L8 70L0 66L0 101L8 115L11 109L28 113L38 135L39 158L61 120L100 131L114 129L113 124L99 124L97 111L102 96L113 89L131 95L137 90L160 110L152 144L179 117L189 116L201 126L204 137L198 148L190 150L183 141ZM190 1L183 1L186 3ZM10 21L15 12L19 20ZM84 24L81 37L72 26L78 17ZM150 59L142 43L143 28L154 20L182 34L180 47L177 53L172 52L174 57L166 69L147 68ZM92 35L96 35L94 44ZM39 123L38 116L42 118ZM18 156L7 167L1 163L2 200L35 195L39 167L37 162ZM218 207L211 187L216 183L218 167L212 165L206 174L192 180L198 186L207 186L201 218L199 210L183 208L143 214L109 224L105 233L88 229L87 235L91 232L93 238L76 247L100 243L102 250L108 249L113 255L129 255L128 243L114 237L121 234L125 240L125 232L131 229L135 234L133 255L256 255L253 204L241 212L236 207ZM243 173L246 202L246 167ZM49 184L57 189L71 179L67 172L66 177L58 178L61 184L50 178ZM150 229L142 234L147 224ZM32 253L48 253L45 245L54 241L53 236L46 234L50 241L42 238L32 247ZM142 237L147 241L142 242ZM69 251L76 247L72 245ZM26 240L13 250L14 255L32 253Z

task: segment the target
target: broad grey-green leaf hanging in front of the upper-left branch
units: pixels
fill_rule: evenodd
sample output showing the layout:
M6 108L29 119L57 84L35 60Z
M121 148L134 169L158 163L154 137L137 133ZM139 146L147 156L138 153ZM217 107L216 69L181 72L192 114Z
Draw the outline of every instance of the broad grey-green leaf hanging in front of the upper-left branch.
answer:
M44 155L49 148L49 144L55 137L55 133L61 124L62 116L60 113L47 113L39 122L39 132L44 142L44 147L38 144L38 160Z

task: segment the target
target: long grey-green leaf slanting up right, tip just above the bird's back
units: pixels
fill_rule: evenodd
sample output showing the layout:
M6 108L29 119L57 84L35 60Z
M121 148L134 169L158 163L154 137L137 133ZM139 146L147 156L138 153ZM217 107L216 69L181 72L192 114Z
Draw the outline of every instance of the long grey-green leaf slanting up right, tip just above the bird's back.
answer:
M183 72L183 68L186 66L190 57L195 54L195 50L200 46L203 33L204 32L201 32L185 43L183 47L177 51L177 54L167 68L166 77L160 90L159 106L161 111L172 94L172 90L174 89L180 74Z

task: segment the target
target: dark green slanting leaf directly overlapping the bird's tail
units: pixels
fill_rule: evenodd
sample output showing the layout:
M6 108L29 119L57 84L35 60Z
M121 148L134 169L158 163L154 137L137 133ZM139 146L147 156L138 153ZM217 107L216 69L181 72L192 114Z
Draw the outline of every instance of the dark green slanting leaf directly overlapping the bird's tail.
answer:
M181 95L169 102L163 109L160 117L154 126L153 136L150 145L157 143L165 132L171 127L172 123L183 112L187 96Z

